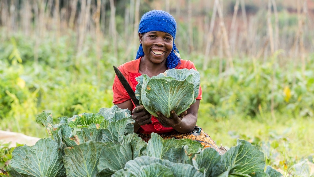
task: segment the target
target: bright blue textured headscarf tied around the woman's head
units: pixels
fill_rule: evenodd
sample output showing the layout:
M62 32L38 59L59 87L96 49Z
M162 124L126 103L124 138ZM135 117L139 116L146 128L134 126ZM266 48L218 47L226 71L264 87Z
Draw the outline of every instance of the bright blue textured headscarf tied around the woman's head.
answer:
M176 20L168 12L162 10L152 10L144 14L138 26L139 33L149 31L162 31L171 34L173 37L172 51L168 55L166 64L169 69L175 68L180 63L179 50L175 45L176 38ZM144 56L142 44L139 45L136 58Z

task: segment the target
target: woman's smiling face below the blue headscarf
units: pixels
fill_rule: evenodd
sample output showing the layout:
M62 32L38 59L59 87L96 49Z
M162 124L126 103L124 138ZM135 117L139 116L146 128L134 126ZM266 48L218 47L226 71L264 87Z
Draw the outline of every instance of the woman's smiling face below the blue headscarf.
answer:
M172 51L173 37L171 34L162 31L149 31L143 34L138 33L139 42L143 46L145 59L154 64L166 62Z

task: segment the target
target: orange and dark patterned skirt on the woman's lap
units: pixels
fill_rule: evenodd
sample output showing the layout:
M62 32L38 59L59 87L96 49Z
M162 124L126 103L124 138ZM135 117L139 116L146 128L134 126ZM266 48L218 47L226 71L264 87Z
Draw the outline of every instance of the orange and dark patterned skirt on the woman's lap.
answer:
M142 138L143 141L148 142L150 139L150 134L143 134L143 133L137 133L139 137ZM226 152L224 147L218 148L216 143L213 141L210 136L203 131L202 128L195 126L194 130L189 132L189 133L180 133L175 131L172 132L167 132L167 133L159 133L159 135L163 139L182 139L182 138L187 138L191 140L196 140L200 142L203 145L203 148L211 147L214 148L216 151L219 152L219 154L224 154Z

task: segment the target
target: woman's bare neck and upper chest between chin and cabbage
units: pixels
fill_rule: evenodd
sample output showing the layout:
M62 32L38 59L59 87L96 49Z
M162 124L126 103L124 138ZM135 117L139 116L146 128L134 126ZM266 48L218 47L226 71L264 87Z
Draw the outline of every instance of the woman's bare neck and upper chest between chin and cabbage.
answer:
M150 62L149 60L145 60L145 56L141 58L140 64L139 64L139 70L138 72L141 74L146 74L149 77L157 76L160 73L163 73L167 70L166 61L155 64Z

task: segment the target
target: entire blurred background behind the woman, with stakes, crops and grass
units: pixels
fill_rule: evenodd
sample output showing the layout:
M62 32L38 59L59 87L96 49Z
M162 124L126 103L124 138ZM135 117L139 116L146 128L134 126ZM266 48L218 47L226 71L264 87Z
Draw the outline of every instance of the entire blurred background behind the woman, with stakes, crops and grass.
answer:
M201 73L198 125L225 147L256 144L286 176L310 176L298 165L314 157L313 4L0 0L0 129L42 138L42 111L57 120L113 106L112 65L135 58L141 15L162 9Z

